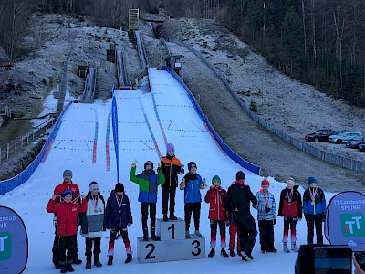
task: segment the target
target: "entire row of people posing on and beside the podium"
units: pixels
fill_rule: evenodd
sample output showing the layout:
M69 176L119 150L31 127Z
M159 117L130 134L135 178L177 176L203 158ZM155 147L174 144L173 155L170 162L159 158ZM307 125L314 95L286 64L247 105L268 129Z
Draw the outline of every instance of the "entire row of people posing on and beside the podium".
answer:
M184 167L175 156L172 143L167 144L166 156L158 164L157 172L153 170L151 161L144 163L141 174L136 174L137 161L131 164L130 181L139 185L138 201L141 202L141 221L143 241L160 240L156 235L156 203L158 186L162 185L162 219L177 220L175 216L176 189L184 191L184 221L185 236L190 234L190 223L193 214L193 237L202 237L200 232L201 190L207 188L205 179L197 173L197 165L189 162L188 172L179 184L178 174L184 174ZM64 181L56 186L54 195L47 204L47 212L55 214L55 240L53 246L53 263L61 273L74 271L72 264L81 264L78 258L77 231L80 225L81 235L85 237L86 269L91 269L92 247L94 246L94 266L101 267L99 254L103 231L110 231L108 248L108 265L112 265L114 243L117 237L122 237L127 253L125 263L132 260L128 227L133 223L130 200L125 194L124 185L118 183L105 203L100 195L99 184L95 181L89 184L88 195L80 195L78 185L72 182L72 172L65 170ZM290 230L291 249L297 251L296 225L302 218L302 211L307 221L307 241L313 243L314 227L316 227L317 242L323 243L322 221L326 217L326 200L323 191L318 188L314 177L308 179L309 187L303 195L298 192L292 178L287 179L287 187L281 192L277 216L284 217L283 248L287 246ZM257 210L257 221L260 232L260 245L263 253L276 252L274 247L274 225L276 224L276 201L269 191L269 181L264 179L262 189L254 195L249 185L245 184L245 174L242 171L235 175L235 182L225 191L218 175L212 178L204 201L209 204L211 251L209 258L215 255L217 230L221 236L221 255L235 256L235 238L237 237L237 254L243 260L252 260L252 250L255 245L257 230L255 219L251 215L251 204ZM168 214L169 213L169 214ZM150 216L150 233L148 217ZM229 226L229 255L225 251L225 226Z

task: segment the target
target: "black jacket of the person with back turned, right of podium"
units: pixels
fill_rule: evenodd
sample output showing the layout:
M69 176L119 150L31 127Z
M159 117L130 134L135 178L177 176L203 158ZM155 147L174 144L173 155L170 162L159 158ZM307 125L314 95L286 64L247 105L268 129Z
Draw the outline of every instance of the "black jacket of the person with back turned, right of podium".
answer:
M235 184L228 188L225 199L225 205L229 212L233 214L234 220L241 222L253 221L255 223L255 219L250 212L250 202L257 205L257 199L251 192L250 187L244 184L243 181L236 180Z

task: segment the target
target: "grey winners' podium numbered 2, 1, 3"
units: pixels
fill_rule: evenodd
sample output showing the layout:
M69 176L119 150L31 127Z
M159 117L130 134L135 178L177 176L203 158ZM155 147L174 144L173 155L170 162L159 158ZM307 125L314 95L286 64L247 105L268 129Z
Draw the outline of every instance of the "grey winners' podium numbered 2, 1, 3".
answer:
M137 238L137 258L140 263L205 258L205 238L192 234L186 238L185 221L182 218L168 222L157 219L156 234L161 237L160 241Z

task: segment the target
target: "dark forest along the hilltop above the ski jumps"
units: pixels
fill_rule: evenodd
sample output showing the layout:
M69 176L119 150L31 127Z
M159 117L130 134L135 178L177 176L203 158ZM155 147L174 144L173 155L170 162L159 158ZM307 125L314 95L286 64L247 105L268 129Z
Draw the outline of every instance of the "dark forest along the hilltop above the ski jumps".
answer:
M276 68L351 105L365 106L363 0L0 0L0 46L12 59L35 11L126 26L128 9L215 18Z

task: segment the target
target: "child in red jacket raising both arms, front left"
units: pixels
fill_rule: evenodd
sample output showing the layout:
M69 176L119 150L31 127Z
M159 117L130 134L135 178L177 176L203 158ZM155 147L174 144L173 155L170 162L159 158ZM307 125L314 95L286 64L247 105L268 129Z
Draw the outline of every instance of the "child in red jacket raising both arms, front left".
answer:
M82 195L82 204L71 203L72 192L68 189L60 195L61 203L55 205L55 200L59 195L53 195L48 201L47 212L57 214L57 236L59 237L59 264L61 273L72 272L72 258L77 250L77 232L78 232L78 212L86 212L88 202L85 195ZM68 259L66 259L68 251Z

